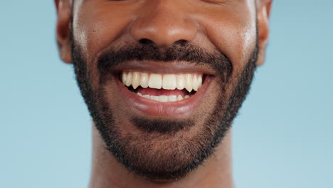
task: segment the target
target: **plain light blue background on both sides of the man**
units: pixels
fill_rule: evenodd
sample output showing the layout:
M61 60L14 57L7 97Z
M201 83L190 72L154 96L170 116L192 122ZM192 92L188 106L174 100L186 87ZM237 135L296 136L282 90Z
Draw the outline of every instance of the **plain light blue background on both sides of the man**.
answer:
M53 1L1 0L0 23L0 187L87 187L90 116ZM236 187L333 187L333 1L275 1L270 26L234 123Z

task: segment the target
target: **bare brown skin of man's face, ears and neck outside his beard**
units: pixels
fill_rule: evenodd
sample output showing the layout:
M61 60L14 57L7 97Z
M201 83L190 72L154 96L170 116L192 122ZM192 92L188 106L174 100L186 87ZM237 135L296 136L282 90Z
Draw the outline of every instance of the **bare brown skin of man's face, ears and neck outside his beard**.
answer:
M128 42L147 38L164 49L179 40L190 41L206 51L222 51L233 63L231 79L239 78L250 58L256 42L256 21L258 21L258 61L265 58L268 42L268 18L270 0L55 0L57 9L57 42L60 58L72 63L70 48L70 19L73 16L75 41L88 61L93 75L92 86L98 86L98 72L95 57L106 48L124 46ZM74 5L74 6L73 6ZM72 11L73 10L73 11ZM174 63L161 67L174 66ZM213 73L213 72L211 72ZM110 85L115 83L110 82ZM218 80L213 80L208 94L194 115L211 112L208 104L218 98ZM115 87L113 87L115 88ZM226 88L231 93L232 85ZM121 101L115 90L108 91L110 103ZM117 121L126 121L128 115L135 115L124 103L122 110L113 109ZM196 127L200 126L200 122ZM125 128L124 128L125 129ZM127 126L128 132L135 132ZM191 132L190 132L191 133ZM191 133L192 134L192 133ZM181 179L152 180L129 172L110 152L93 126L93 169L90 187L233 187L231 172L231 129L228 130L213 155L196 170Z

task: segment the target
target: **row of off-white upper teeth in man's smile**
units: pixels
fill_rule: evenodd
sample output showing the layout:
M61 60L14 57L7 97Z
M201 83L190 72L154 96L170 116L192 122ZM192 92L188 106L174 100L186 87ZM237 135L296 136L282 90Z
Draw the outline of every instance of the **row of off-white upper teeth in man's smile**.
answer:
M138 86L142 88L155 88L183 90L184 88L191 92L197 91L202 85L202 74L199 73L182 73L182 74L157 74L142 73L136 71L123 71L122 83L129 87L132 85L134 89Z

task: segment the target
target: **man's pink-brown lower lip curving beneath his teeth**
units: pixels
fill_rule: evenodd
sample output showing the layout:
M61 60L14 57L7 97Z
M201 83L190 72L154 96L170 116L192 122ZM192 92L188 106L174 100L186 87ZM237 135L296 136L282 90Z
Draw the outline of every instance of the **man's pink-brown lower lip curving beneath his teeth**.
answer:
M119 79L115 80L117 88L121 93L120 96L123 96L129 108L139 115L152 117L186 117L198 107L203 99L203 95L206 93L209 83L211 83L211 76L206 77L201 88L190 98L167 103L142 98L136 93L128 90Z

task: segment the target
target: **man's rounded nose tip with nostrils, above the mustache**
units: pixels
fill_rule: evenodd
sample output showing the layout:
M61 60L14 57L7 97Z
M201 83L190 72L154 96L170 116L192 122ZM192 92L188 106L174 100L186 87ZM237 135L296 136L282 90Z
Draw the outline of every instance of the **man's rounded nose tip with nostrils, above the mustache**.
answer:
M168 47L179 41L192 41L197 31L195 24L185 17L158 12L138 18L132 23L130 32L140 43L152 42L159 47Z

